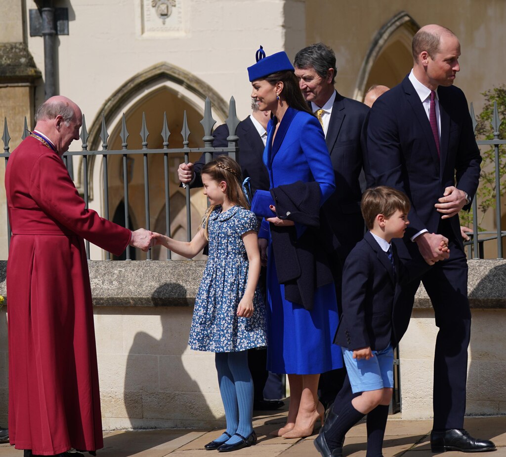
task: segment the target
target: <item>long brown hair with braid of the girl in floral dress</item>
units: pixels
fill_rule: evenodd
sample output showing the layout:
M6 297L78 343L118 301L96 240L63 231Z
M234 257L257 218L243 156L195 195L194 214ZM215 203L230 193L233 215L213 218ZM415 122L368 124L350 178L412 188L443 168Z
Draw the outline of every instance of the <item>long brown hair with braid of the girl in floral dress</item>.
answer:
M213 181L225 181L227 183L227 188L225 191L227 200L233 205L242 206L243 208L249 209L248 202L244 196L244 192L242 191L241 167L234 159L231 159L229 156L225 155L219 156L215 160L207 162L202 167L200 174L209 175ZM201 226L205 231L204 237L207 241L209 241L209 217L215 208L216 205L209 206L202 218Z

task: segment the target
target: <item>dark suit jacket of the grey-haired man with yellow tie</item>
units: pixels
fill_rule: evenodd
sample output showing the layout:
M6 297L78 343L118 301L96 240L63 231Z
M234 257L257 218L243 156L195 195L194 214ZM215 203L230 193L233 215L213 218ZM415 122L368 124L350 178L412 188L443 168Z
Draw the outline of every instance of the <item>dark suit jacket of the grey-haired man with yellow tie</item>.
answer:
M324 203L332 232L340 243L339 256L346 256L362 239L360 172L363 166L362 127L369 108L335 93L325 142L335 176L335 192Z

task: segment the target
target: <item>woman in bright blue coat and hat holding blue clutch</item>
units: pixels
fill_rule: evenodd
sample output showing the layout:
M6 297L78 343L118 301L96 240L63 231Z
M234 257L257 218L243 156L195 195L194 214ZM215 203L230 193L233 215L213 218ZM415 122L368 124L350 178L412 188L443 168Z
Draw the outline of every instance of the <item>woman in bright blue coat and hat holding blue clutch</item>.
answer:
M317 252L324 237L315 227L319 207L334 192L334 173L323 130L287 55L265 57L261 48L248 74L251 97L261 111L272 112L264 162L278 208L272 205L273 217L263 222L269 239L267 368L286 373L290 384L286 425L273 434L297 438L311 435L323 419L320 374L343 365L340 347L332 344L339 319L334 284L329 264Z

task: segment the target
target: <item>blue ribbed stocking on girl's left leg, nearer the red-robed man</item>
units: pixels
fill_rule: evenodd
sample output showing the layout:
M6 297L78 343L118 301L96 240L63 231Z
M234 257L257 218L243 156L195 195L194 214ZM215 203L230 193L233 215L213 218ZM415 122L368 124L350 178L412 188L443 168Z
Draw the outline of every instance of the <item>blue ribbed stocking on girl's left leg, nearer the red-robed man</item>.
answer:
M239 410L237 408L237 395L235 393L234 378L228 366L228 352L217 352L215 354L216 371L218 372L218 384L225 409L227 421L227 433L232 436L239 426ZM229 437L221 435L215 441L227 441Z

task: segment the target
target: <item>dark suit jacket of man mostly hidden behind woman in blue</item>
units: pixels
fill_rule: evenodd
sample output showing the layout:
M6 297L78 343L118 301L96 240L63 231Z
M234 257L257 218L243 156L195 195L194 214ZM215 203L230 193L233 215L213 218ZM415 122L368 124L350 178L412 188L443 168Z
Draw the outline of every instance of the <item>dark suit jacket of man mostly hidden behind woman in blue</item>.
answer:
M264 142L258 134L258 130L251 122L249 116L243 121L239 122L235 134L239 137L239 165L242 170L243 179L250 178L251 194L255 194L257 189L264 191L269 190L269 175L267 174L267 168L264 165L263 154L264 154ZM213 132L215 140L213 147L215 148L227 148L228 141L227 136L229 135L227 124L218 126ZM218 157L223 153L215 153L214 158ZM200 171L205 164L205 154L195 162L194 171L195 179L191 184L191 187L202 187L202 179L200 178Z

